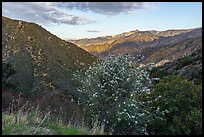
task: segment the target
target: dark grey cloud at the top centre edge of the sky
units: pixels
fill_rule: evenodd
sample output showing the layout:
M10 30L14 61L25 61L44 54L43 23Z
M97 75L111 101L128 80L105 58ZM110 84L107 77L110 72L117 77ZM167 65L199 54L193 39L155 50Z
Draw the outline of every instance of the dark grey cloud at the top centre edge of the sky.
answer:
M57 7L92 11L105 15L117 15L120 13L133 13L138 9L150 8L146 2L58 2Z

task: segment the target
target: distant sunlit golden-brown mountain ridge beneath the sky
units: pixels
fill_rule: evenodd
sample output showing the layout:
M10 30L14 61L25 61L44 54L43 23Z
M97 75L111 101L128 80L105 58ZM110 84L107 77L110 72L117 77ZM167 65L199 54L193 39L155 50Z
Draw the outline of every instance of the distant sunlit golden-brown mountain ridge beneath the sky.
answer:
M154 61L154 63L163 64L201 48L202 28L166 31L135 30L115 36L79 39L72 42L100 58L109 54L116 56L130 54L135 57L135 60L140 58L141 63ZM172 50L173 48L174 50ZM182 48L183 51L181 51Z

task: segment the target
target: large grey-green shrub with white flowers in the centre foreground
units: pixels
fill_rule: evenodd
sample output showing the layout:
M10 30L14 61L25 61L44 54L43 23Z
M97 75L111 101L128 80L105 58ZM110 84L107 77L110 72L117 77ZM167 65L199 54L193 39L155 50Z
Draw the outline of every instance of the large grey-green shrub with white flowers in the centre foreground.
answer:
M89 122L97 119L106 132L146 134L145 102L149 94L148 72L126 56L110 56L93 64L81 77L80 92L89 96L85 112Z

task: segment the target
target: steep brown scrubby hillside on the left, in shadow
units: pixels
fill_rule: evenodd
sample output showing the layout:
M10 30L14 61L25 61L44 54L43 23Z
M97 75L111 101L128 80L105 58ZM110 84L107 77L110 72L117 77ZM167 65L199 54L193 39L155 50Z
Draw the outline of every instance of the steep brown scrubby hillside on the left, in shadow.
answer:
M73 98L84 97L72 76L97 59L37 24L2 17L2 61L15 70L7 80L15 92L44 108L59 109L60 105L72 106ZM74 105L69 109L73 113Z

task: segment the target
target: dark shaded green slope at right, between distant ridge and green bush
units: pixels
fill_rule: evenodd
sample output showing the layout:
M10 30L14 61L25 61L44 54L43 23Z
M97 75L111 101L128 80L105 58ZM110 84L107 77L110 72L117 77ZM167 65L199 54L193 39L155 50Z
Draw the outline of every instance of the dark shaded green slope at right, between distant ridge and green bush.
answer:
M188 56L154 67L150 71L152 77L163 78L167 75L183 75L199 85L202 83L202 48Z

